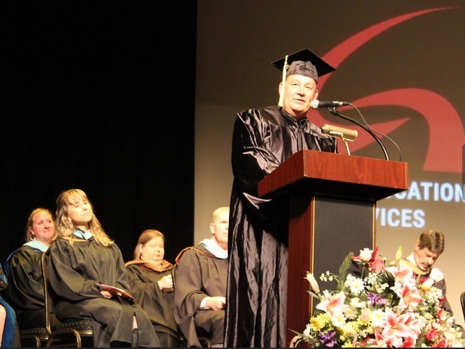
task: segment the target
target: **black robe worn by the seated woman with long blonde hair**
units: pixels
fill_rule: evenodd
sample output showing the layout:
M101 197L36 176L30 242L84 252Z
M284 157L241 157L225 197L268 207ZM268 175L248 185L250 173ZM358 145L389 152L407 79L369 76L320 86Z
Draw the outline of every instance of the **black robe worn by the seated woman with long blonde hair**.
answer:
M122 297L105 298L95 283L131 292L123 256L117 244L108 247L93 238L75 241L57 239L46 252L54 310L58 320L91 318L94 347L112 342L158 347L152 322L139 304ZM138 343L133 343L133 316L138 322Z

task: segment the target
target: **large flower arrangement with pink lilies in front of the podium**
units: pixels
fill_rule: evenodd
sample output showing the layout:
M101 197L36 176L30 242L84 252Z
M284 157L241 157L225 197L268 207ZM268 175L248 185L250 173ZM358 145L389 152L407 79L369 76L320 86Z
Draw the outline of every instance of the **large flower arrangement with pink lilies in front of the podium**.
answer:
M304 332L293 330L291 348L301 342L310 347L464 347L460 327L442 307L442 290L433 286L443 274L434 268L428 278L415 277L400 262L401 247L394 262L376 258L377 253L378 248L349 253L339 275L323 273L321 281L337 282L336 290L320 292L315 276L307 273L307 292L319 303Z

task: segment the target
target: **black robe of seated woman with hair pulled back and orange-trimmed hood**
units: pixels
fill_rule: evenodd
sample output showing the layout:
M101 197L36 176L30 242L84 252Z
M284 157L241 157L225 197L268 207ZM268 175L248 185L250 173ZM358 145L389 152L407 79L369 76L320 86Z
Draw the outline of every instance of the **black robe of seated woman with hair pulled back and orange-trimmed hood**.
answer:
M129 283L135 302L149 315L163 348L179 346L180 330L173 316L175 310L175 292L171 289L160 290L158 281L171 275L172 264L163 261L163 268L154 270L152 265L142 260L126 263ZM173 338L169 338L165 334Z

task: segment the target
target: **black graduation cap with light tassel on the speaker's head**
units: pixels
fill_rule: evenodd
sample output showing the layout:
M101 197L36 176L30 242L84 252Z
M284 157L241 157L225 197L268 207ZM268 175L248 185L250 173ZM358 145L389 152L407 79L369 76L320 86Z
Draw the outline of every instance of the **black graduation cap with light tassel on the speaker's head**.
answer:
M283 71L283 84L286 82L286 77L289 75L304 75L318 82L318 77L336 70L336 68L327 64L308 48L304 48L293 54L288 54L286 57L274 61L272 66ZM283 105L281 99L282 96L278 103L280 106Z

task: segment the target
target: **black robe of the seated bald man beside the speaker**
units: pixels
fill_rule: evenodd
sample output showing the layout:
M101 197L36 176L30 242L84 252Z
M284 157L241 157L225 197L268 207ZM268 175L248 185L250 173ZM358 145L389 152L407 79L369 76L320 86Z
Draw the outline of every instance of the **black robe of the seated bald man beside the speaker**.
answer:
M188 248L177 257L175 288L175 320L187 339L187 346L201 347L195 325L203 329L214 327L208 336L212 344L223 343L224 309L199 310L202 299L226 297L228 260L216 258L203 244ZM213 324L213 325L212 325ZM214 334L212 335L212 333Z

